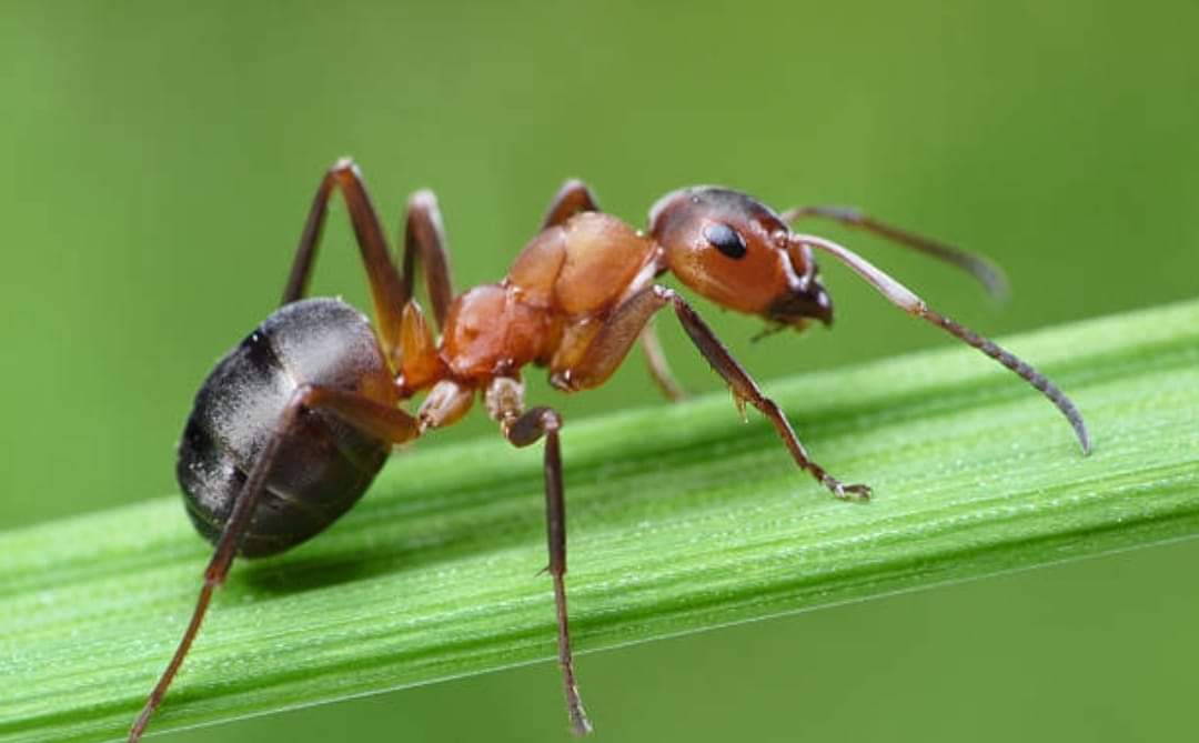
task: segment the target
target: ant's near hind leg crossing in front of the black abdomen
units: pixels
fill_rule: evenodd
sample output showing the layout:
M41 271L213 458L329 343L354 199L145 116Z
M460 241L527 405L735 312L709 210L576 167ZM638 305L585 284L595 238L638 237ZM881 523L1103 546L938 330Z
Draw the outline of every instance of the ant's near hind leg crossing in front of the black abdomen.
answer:
M229 575L229 568L233 565L241 537L249 527L261 493L266 489L266 479L279 454L279 448L300 412L305 408L327 409L347 423L394 443L404 443L420 435L416 420L408 413L398 408L381 406L355 393L313 385L303 385L293 393L287 407L283 408L283 414L279 415L275 433L258 454L241 492L237 493L233 513L229 514L229 520L221 532L221 539L217 541L212 559L204 570L204 585L200 587L200 595L192 611L192 619L188 622L167 670L155 684L141 713L129 729L128 743L137 743L141 738L146 725L150 724L150 718L162 703L167 688L170 687L170 682L174 681L180 666L183 665L183 658L191 649L192 642L200 631L204 616L207 613L213 589L224 583L225 576Z

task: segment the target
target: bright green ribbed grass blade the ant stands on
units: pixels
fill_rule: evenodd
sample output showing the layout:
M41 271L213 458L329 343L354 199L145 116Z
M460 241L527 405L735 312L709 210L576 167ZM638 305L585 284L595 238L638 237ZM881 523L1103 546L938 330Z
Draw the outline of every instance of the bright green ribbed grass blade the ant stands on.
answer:
M1079 405L1090 457L965 348L766 385L867 505L725 395L567 421L584 693L588 652L1199 534L1199 302L1007 344ZM326 534L236 563L151 730L554 658L540 457L416 448ZM0 741L121 736L207 555L177 497L0 535Z

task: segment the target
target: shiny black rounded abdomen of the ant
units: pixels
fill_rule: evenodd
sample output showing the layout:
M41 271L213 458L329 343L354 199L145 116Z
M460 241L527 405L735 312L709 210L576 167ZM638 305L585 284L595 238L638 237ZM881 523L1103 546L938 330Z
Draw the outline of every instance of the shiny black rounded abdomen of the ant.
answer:
M301 384L396 402L387 364L361 312L335 299L277 310L204 381L179 445L176 475L187 514L209 541L219 539ZM303 411L279 449L239 553L282 552L331 525L362 497L390 448L329 413Z

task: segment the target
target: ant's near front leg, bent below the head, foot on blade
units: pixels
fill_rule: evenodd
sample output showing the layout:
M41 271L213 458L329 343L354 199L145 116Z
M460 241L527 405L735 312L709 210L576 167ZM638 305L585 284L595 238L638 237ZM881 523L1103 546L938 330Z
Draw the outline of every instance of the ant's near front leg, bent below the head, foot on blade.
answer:
M761 393L758 384L737 364L736 359L712 332L712 329L673 289L655 284L626 300L596 334L583 359L572 368L554 370L550 383L567 391L590 389L602 384L616 371L616 367L628 354L633 338L650 322L653 313L667 305L674 306L675 316L682 323L687 335L691 336L692 343L704 355L712 370L729 385L739 409L743 409L747 402L758 408L775 426L795 463L809 472L835 496L844 501L869 499L869 487L845 485L812 460L778 403Z

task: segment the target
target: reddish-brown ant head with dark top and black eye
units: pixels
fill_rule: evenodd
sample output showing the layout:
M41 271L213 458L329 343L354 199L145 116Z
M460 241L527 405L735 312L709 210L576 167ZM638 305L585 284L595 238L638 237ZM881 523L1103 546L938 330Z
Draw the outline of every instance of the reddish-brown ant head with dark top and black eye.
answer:
M832 323L812 248L766 205L715 186L674 191L650 210L650 234L685 284L730 310L803 328Z

